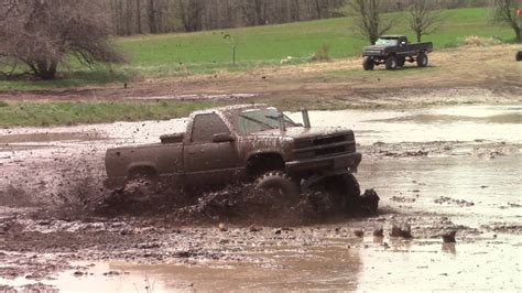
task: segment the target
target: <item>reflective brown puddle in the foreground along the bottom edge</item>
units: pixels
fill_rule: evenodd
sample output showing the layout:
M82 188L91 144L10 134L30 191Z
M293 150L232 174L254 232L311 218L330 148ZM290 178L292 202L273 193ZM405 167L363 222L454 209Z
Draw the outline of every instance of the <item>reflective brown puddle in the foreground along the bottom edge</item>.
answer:
M371 236L329 239L335 245L327 245L328 239L323 239L316 247L263 247L262 252L250 253L246 247L236 252L255 261L78 262L52 280L0 280L13 287L40 282L64 292L78 287L104 292L521 290L516 258L522 239L512 243L512 239L488 237L485 245Z

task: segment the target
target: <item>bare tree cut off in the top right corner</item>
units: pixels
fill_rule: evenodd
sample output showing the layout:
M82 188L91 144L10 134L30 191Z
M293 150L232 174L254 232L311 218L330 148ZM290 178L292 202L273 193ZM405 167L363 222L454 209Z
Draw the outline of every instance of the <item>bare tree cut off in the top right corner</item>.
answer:
M515 2L520 1L493 0L493 21L512 28L516 35L516 41L522 43L522 15L520 15L522 8L519 8Z

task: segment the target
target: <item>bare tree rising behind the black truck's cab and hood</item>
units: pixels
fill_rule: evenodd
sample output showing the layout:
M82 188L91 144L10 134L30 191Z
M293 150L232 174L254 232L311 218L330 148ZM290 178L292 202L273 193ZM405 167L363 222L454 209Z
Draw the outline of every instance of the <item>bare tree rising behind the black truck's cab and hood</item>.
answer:
M389 4L385 0L350 0L348 8L356 17L359 32L374 44L380 35L390 31L395 24L394 20L383 20L381 14Z

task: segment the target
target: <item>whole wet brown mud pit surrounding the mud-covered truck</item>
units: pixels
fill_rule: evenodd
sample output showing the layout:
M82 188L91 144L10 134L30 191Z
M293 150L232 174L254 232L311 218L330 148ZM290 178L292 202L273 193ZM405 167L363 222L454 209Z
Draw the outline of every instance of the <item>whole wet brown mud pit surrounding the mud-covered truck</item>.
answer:
M521 113L518 105L312 112L315 126L356 130L357 177L381 208L284 227L77 208L104 193L107 148L157 141L183 119L0 130L0 289L521 290ZM390 237L394 224L413 238ZM381 227L384 237L373 237ZM457 242L443 243L450 230Z

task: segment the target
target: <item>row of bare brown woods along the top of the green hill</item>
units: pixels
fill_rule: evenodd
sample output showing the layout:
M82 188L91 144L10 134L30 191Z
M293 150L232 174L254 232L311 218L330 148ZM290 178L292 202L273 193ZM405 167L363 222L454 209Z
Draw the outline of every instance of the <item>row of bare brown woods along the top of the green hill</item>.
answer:
M414 0L387 0L383 12ZM483 7L490 0L431 0L431 7ZM106 1L104 1L106 2ZM350 0L109 0L116 35L195 32L346 17Z

